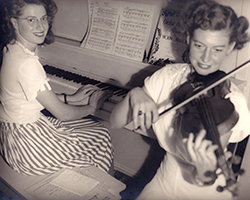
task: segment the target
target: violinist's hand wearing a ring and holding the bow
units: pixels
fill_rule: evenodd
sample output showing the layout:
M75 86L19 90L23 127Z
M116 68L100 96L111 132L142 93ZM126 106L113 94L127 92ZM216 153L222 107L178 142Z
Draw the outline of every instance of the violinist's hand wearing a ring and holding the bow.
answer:
M159 116L155 102L145 89L137 87L129 92L129 103L132 108L134 128L146 132Z

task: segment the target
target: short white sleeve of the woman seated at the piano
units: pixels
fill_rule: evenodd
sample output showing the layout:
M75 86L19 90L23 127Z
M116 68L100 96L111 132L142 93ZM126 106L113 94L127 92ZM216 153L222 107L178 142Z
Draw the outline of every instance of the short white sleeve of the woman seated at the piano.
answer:
M43 66L36 57L28 58L22 63L18 80L27 100L35 99L39 90L51 90Z

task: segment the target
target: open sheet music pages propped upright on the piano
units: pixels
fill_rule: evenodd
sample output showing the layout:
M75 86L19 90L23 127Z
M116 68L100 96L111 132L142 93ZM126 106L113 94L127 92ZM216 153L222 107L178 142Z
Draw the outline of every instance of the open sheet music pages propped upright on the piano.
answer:
M155 6L89 0L89 30L82 47L142 61Z

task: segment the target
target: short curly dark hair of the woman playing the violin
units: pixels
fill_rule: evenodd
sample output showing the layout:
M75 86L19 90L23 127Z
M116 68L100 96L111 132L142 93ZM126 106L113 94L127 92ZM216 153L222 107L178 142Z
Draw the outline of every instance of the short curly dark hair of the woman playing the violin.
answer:
M213 0L192 0L186 5L180 20L184 34L190 37L196 29L230 31L229 43L235 42L234 49L241 49L249 36L246 33L249 23L243 17L237 17L229 6L221 5Z

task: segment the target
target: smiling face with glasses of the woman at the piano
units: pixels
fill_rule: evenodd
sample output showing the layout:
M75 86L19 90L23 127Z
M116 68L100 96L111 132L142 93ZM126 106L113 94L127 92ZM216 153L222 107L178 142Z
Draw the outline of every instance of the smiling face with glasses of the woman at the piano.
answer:
M17 41L34 51L37 44L44 42L48 32L47 13L42 5L26 4L22 15L12 18Z

